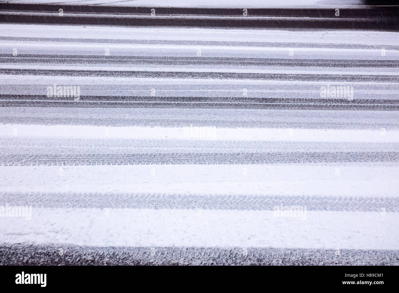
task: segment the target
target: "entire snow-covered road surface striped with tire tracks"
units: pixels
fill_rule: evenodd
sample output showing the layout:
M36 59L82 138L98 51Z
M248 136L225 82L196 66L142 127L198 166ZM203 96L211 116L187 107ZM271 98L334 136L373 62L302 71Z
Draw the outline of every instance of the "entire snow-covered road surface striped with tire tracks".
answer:
M0 1L1 265L399 265L398 6L202 2Z

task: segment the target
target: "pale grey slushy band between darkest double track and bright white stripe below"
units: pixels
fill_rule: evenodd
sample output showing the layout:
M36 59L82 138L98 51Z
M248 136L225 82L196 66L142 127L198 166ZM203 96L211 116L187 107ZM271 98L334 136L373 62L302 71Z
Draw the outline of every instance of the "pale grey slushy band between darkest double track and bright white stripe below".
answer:
M398 130L398 111L0 107L2 124ZM123 119L119 118L122 116ZM295 117L295 119L292 119ZM311 117L311 118L310 118Z

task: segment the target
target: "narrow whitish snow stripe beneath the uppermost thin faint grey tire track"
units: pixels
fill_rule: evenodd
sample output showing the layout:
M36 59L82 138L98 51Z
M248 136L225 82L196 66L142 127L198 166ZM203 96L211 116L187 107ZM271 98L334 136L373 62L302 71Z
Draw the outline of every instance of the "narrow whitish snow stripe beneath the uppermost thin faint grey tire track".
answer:
M166 45L166 44L116 44L116 43L55 43L28 41L0 41L0 53L7 54L18 46L18 54L87 54L104 55L108 48L112 55L141 56L186 56L196 57L201 49L204 57L252 57L252 58L289 58L289 50L295 51L298 59L388 59L398 60L399 50L385 50L381 57L381 49L346 49L346 48L305 48L292 45L281 47L220 46L220 45ZM10 50L11 49L11 50ZM292 57L291 57L292 58Z

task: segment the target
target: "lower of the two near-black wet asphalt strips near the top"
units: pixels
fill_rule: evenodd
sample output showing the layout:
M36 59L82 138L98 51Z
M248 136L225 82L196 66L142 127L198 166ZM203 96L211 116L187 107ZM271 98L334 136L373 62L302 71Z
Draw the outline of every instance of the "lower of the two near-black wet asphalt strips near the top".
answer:
M0 7L1 9L1 7ZM57 7L57 10L59 7ZM333 13L333 10L331 10ZM273 18L275 17L275 19ZM72 25L107 25L107 26L173 26L173 27L199 27L199 28L296 28L296 29L370 29L397 31L399 23L395 18L324 18L312 19L300 16L294 19L282 19L272 16L269 18L261 17L245 18L237 16L236 18L225 18L224 16L215 16L212 18L192 18L190 16L179 18L154 18L149 14L145 18L141 16L126 15L115 16L86 14L76 16L73 13L59 16L53 15L19 15L7 14L1 15L0 23L19 23L19 24L72 24Z

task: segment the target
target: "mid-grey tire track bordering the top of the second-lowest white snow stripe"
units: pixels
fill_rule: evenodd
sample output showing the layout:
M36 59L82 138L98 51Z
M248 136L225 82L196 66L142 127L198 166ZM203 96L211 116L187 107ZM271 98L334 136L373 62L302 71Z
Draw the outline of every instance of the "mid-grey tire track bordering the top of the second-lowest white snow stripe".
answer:
M209 152L209 153L71 153L2 156L3 166L162 165L162 164L283 164L399 162L396 151L335 152Z

